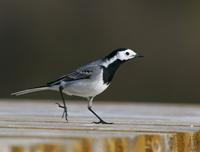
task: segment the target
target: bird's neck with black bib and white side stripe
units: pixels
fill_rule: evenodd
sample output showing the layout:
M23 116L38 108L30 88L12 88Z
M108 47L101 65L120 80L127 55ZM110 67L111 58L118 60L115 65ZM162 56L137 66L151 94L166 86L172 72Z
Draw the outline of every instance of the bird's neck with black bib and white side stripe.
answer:
M117 69L119 66L124 63L124 61L121 61L117 59L117 57L113 56L112 58L105 58L104 63L102 64L103 67L103 81L106 84L109 84Z

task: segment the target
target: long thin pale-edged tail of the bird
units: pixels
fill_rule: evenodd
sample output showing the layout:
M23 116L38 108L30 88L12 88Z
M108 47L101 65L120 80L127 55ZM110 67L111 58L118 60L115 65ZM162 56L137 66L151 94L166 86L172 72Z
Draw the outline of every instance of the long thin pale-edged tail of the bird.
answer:
M20 96L20 95L27 94L27 93L44 91L44 90L48 90L48 89L49 89L48 86L41 86L41 87L36 87L36 88L22 90L22 91L19 91L19 92L14 92L14 93L11 93L11 95L13 95L13 96Z

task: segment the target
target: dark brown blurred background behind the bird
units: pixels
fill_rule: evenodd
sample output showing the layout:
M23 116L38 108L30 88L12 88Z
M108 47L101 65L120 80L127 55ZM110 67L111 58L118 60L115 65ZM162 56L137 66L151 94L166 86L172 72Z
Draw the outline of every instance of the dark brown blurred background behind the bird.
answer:
M126 47L145 58L120 67L96 100L198 102L199 16L198 1L1 0L0 98L60 99L10 93Z

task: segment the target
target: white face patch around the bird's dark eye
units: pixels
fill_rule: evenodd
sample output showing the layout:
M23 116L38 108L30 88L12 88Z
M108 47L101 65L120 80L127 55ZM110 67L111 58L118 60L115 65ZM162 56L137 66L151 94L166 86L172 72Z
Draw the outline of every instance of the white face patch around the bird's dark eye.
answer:
M129 59L132 59L135 56L136 56L136 53L134 51L132 51L131 49L119 51L117 53L117 59L119 59L121 61L126 61L126 60L129 60Z

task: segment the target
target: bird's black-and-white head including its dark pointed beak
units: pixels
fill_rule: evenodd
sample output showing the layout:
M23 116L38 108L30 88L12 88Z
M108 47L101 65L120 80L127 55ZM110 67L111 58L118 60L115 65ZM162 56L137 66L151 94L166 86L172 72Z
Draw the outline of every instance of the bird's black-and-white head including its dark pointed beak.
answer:
M106 56L107 59L116 58L122 62L138 57L144 57L144 56L139 55L133 50L127 48L115 49L108 56Z

